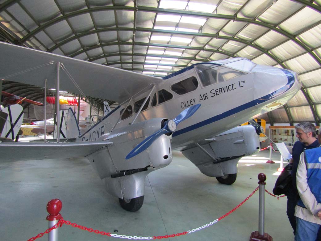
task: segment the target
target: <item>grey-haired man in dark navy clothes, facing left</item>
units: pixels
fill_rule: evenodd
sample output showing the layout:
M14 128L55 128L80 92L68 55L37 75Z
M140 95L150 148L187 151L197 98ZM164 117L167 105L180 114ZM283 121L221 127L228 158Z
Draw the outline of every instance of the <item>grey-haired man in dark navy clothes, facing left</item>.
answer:
M306 149L311 149L319 146L319 143L316 138L316 127L310 122L299 123L296 127L296 137L299 139L294 143L292 148L292 158L290 163L293 163L291 177L292 177L292 186L287 192L287 210L286 214L288 215L290 224L293 228L293 233L295 234L296 230L296 220L294 216L295 206L297 205L299 196L297 191L296 184L296 173L299 165L300 155Z

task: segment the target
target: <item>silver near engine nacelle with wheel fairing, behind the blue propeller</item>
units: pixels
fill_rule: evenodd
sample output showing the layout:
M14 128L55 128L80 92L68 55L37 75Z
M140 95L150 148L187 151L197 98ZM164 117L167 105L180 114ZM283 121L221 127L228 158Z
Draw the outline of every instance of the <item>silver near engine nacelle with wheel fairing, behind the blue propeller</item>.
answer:
M146 175L171 163L171 135L161 135L146 150L125 159L136 145L160 130L164 121L166 120L162 118L142 121L115 129L100 137L100 141L108 140L113 144L88 158L104 181L107 192L124 199L143 196Z

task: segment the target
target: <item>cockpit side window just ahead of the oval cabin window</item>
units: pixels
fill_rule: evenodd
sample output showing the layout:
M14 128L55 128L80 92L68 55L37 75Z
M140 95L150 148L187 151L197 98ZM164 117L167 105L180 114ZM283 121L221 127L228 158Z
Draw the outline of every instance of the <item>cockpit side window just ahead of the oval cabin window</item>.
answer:
M203 86L217 83L217 71L219 66L211 64L195 65L196 72Z

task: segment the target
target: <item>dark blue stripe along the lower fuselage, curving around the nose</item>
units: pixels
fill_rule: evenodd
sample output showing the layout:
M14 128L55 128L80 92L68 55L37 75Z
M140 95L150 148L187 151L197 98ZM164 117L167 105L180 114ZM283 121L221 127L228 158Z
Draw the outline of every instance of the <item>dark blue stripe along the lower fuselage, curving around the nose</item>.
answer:
M242 104L242 105L240 105L238 107L235 107L235 108L233 108L233 109L231 109L231 110L229 110L227 112L223 112L223 113L221 113L219 115L216 115L214 117L211 117L211 118L209 118L207 120L198 122L198 123L196 123L194 125L191 125L191 126L188 126L188 127L184 128L184 129L175 131L173 133L173 137L181 135L181 134L184 134L184 133L186 133L188 131L200 128L202 126L211 124L211 123L213 123L215 121L219 121L219 120L221 120L223 118L229 117L229 116L234 115L234 114L236 114L238 112L241 112L241 111L244 111L244 110L246 110L248 108L251 108L251 107L253 107L253 106L257 105L257 104L261 104L261 103L263 103L265 101L268 101L268 100L270 100L270 99L272 99L272 98L274 98L274 97L276 97L276 96L278 96L280 94L283 94L285 91L289 90L292 87L292 85L294 84L294 75L291 74L291 72L286 70L286 69L281 69L281 70L288 77L288 83L286 85L284 85L283 87L281 87L280 89L274 91L273 93L267 94L267 95L265 95L265 96L263 96L263 97L261 97L259 99L256 99L256 100L250 101L248 103Z

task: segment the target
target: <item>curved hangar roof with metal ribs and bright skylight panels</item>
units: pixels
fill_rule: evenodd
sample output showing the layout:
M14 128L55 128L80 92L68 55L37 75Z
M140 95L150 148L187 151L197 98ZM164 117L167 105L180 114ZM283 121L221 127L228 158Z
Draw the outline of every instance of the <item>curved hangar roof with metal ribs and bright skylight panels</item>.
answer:
M0 40L138 73L245 57L297 72L301 90L264 116L321 116L321 0L0 0ZM28 98L28 97L27 97ZM36 97L32 97L36 98Z

